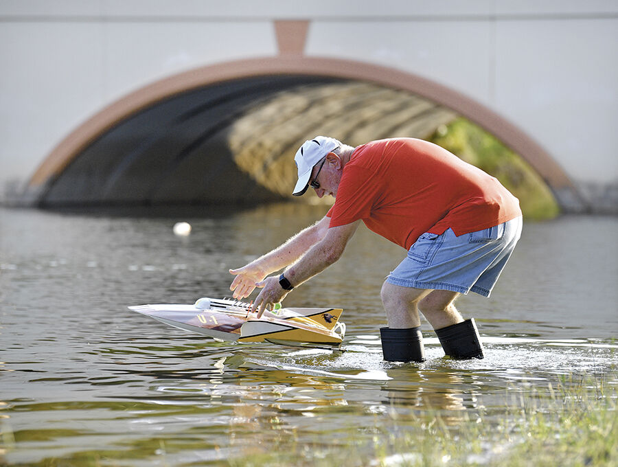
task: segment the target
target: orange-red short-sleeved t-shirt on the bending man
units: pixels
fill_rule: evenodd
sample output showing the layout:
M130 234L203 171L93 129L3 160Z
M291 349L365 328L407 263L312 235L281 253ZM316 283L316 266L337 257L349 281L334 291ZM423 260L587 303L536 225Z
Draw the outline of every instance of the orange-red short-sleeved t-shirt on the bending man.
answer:
M358 146L343 167L330 227L362 219L409 249L424 234L460 236L521 215L518 199L493 176L446 149L413 138Z

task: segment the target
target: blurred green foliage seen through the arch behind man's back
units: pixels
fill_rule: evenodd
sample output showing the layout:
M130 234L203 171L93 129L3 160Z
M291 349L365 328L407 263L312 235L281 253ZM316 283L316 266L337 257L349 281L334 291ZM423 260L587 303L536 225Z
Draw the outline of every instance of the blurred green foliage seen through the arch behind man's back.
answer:
M560 208L547 184L531 166L498 139L459 117L429 138L464 161L495 176L517 196L525 218L550 219Z

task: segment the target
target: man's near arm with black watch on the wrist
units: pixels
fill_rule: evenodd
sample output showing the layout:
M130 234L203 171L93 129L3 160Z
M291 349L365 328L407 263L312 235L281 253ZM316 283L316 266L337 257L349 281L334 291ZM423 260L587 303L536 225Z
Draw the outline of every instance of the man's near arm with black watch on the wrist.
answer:
M290 284L298 286L339 260L345 250L345 245L354 235L359 223L361 221L356 220L350 224L328 229L320 242L314 244L306 255L286 270L286 279L290 281ZM258 318L262 316L268 305L279 303L288 294L288 291L279 285L279 277L276 276L267 277L266 280L256 285L263 287L251 308L251 311L258 310Z

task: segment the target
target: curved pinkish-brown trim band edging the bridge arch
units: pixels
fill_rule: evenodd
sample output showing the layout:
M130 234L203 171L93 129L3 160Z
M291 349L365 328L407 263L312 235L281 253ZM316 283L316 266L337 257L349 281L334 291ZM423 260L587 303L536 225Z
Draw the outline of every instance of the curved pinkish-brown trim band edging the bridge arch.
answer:
M420 95L457 111L501 139L542 176L562 205L568 204L569 198L579 197L569 176L533 139L494 111L453 89L411 73L379 65L291 54L223 62L192 69L159 80L124 96L93 115L60 141L60 144L52 150L30 179L30 196L36 197L36 193L41 193L45 186L52 183L56 176L67 168L69 163L78 157L92 141L119 122L152 104L185 91L220 82L287 74L329 76L374 82L385 87L402 89Z

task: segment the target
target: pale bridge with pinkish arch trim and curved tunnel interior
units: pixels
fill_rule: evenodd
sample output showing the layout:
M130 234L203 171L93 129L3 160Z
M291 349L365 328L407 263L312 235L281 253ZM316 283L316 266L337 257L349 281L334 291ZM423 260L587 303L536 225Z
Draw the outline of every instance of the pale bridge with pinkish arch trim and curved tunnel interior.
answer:
M463 115L562 207L615 210L615 2L5 1L0 24L0 185L25 203L279 199L308 137Z

